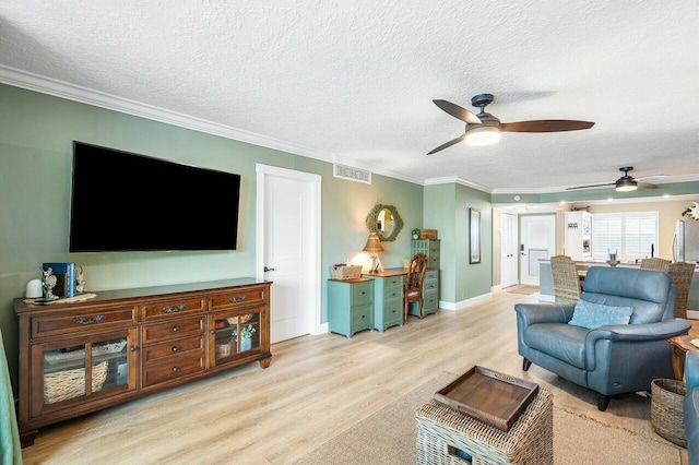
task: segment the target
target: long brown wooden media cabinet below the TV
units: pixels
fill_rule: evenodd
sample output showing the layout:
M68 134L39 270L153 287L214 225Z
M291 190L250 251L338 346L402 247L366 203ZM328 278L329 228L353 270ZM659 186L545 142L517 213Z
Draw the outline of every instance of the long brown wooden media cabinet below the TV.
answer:
M47 306L15 299L22 445L47 425L244 363L269 367L271 284L122 289ZM249 345L236 337L246 332ZM224 355L217 347L226 339Z

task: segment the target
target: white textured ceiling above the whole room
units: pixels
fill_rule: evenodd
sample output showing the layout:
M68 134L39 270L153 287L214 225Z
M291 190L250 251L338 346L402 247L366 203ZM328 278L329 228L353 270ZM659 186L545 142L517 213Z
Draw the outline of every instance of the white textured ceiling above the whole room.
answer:
M10 0L0 43L0 76L420 183L543 192L627 165L699 179L696 0ZM477 112L479 93L502 122L596 124L427 156L464 131L431 100Z

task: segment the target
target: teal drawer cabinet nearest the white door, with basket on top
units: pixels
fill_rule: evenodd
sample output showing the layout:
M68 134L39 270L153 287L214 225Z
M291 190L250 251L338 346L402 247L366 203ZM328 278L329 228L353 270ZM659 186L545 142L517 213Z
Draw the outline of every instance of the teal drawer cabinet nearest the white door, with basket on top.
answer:
M374 327L374 279L328 281L328 325L332 333L352 337Z

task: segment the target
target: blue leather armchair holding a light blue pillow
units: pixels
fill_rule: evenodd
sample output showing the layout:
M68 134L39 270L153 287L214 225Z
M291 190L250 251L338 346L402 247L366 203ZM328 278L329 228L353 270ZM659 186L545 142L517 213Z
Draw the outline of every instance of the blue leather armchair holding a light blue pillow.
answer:
M568 324L576 303L518 303L518 349L531 363L597 393L606 410L614 395L650 391L655 378L673 378L670 337L691 324L674 318L676 288L667 273L592 266L581 300L632 307L629 324L585 329Z

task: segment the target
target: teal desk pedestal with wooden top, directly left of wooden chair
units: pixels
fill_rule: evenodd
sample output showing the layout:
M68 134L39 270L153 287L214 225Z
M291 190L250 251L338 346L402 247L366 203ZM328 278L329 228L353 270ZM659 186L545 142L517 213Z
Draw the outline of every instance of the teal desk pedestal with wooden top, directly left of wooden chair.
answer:
M362 273L372 278L374 284L374 329L386 331L390 326L403 324L403 285L407 270L386 269L380 273Z

